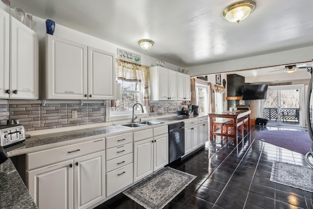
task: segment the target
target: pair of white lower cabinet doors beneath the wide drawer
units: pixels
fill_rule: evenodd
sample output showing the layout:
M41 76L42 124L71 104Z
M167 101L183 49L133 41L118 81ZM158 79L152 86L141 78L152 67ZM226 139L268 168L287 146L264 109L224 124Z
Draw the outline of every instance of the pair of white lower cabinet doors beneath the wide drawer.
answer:
M39 209L86 209L106 197L105 151L27 172Z

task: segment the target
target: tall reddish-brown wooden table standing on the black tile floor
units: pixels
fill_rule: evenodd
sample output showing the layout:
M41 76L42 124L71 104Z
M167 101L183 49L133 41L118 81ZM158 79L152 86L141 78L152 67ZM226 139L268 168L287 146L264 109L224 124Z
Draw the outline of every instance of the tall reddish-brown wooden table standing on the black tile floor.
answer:
M224 137L233 137L234 138L234 143L237 143L237 125L238 122L240 121L240 118L247 117L247 131L250 131L250 114L251 110L235 110L234 112L223 112L223 113L210 113L209 118L210 118L210 140L213 139L213 136L224 136ZM213 132L213 122L214 118L216 117L221 117L221 118L230 118L233 119L233 132L232 134L223 133L223 130L221 133L216 133ZM222 128L222 127L221 127Z

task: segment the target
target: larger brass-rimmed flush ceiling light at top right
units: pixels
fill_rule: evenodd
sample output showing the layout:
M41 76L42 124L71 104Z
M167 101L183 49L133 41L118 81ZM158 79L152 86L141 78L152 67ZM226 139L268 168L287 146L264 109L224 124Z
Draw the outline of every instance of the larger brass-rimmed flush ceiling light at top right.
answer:
M255 7L253 1L245 0L227 6L223 11L223 17L230 23L239 23L246 19Z

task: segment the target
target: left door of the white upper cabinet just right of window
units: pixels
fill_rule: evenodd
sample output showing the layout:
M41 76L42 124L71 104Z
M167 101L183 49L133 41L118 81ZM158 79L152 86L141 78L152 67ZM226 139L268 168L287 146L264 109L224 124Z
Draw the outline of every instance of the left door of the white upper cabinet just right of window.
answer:
M169 83L168 83L168 70L158 67L158 99L169 99Z

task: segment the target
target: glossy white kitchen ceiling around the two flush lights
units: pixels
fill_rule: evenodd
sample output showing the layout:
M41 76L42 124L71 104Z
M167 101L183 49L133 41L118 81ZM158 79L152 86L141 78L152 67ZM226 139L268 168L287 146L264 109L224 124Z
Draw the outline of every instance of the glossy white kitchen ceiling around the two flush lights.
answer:
M254 0L239 24L222 16L234 2L12 0L11 7L180 67L313 46L313 0ZM140 39L155 45L145 52Z

